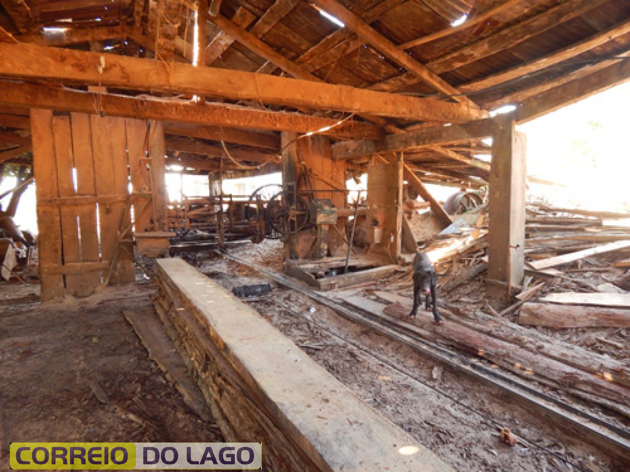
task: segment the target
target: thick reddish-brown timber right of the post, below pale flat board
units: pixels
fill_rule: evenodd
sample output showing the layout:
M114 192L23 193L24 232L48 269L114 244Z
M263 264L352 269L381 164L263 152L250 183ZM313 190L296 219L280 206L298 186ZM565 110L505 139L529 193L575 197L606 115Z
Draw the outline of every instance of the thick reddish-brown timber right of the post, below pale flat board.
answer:
M610 294L602 293L598 295ZM630 310L593 308L591 306L563 306L550 303L525 303L520 309L518 323L557 329L630 328Z

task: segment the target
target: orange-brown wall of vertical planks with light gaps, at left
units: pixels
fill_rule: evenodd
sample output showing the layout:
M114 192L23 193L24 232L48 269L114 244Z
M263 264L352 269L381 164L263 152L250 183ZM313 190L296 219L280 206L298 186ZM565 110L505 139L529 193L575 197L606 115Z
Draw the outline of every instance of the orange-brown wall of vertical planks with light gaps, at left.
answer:
M42 300L93 293L113 259L110 281L134 281L131 208L139 230L146 231L161 229L155 215L165 207L161 124L35 109L31 123ZM151 129L156 132L149 138ZM156 180L161 193L151 198ZM119 242L128 250L117 249Z

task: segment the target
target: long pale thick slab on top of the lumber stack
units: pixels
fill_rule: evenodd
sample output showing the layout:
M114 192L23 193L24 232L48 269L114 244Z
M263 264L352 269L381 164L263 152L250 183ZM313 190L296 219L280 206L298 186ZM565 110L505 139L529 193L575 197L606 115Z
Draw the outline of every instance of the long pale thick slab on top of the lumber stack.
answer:
M290 435L296 451L311 461L309 470L451 470L219 284L181 259L159 259L156 266L160 280L186 301L217 352L239 374L246 395L263 398L276 430ZM251 434L244 430L241 437ZM400 454L402 446L418 452Z

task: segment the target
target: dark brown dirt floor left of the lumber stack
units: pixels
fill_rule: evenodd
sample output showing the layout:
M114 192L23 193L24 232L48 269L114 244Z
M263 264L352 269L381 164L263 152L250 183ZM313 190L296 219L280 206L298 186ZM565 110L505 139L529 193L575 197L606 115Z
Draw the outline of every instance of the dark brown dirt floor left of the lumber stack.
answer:
M164 378L123 317L151 284L38 303L38 286L0 284L0 470L12 441L222 441Z

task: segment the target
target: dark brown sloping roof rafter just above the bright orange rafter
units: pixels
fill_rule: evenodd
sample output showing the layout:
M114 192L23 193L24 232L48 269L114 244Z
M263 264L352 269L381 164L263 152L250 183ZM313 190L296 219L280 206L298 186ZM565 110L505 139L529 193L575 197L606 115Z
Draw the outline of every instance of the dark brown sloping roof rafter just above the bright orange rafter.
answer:
M566 0L558 6L521 21L516 25L504 28L476 43L454 50L438 59L427 63L427 67L435 74L457 69L476 60L493 55L501 50L513 47L554 26L573 20L583 13L597 8L607 0ZM466 23L464 23L466 24Z

